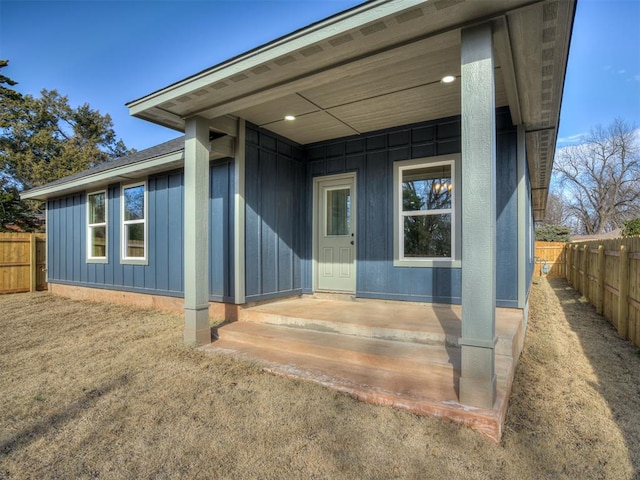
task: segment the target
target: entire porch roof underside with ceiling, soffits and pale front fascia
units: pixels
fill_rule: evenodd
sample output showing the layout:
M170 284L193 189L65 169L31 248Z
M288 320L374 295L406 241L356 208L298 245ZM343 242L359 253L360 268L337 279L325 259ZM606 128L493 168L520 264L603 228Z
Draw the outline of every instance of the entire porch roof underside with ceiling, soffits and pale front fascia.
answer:
M461 28L492 21L496 106L508 105L527 132L540 217L574 8L572 0L377 0L128 107L134 116L179 131L193 115L240 117L300 144L458 115L460 83L441 79L459 79Z

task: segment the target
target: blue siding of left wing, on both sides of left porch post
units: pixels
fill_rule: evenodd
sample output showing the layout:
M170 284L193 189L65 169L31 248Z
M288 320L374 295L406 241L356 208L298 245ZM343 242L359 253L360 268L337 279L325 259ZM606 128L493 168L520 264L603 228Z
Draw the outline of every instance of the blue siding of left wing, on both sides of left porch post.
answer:
M144 180L144 178L139 179ZM184 289L184 182L181 170L147 179L148 264L120 261L120 184L107 187L107 262L87 262L86 193L47 203L48 279L79 285L182 297ZM211 167L210 297L233 298L233 161ZM231 253L229 257L228 253Z

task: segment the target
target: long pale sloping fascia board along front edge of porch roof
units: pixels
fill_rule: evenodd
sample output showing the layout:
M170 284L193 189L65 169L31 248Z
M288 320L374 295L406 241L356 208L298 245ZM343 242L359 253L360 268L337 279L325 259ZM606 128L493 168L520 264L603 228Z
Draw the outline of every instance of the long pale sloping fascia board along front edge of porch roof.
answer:
M338 14L294 32L235 59L129 102L126 106L129 108L129 114L135 116L161 103L187 95L192 91L207 87L234 74L423 3L426 3L425 0L376 0L366 3L361 7L356 7L343 14Z

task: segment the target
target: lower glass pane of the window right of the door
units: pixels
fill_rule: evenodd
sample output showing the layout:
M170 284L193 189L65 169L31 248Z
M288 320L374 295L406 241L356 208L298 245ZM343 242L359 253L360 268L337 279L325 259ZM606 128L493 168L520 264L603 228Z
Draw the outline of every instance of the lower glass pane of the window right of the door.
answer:
M451 257L451 215L405 217L404 256Z

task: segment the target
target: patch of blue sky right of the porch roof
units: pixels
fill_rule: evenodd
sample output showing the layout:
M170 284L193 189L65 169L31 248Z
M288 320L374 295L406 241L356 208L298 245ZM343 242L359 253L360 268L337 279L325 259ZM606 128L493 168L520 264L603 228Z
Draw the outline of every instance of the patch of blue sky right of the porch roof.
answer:
M616 117L640 128L640 1L578 0L558 145Z

